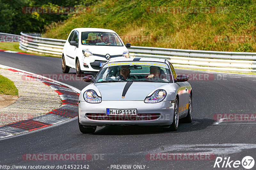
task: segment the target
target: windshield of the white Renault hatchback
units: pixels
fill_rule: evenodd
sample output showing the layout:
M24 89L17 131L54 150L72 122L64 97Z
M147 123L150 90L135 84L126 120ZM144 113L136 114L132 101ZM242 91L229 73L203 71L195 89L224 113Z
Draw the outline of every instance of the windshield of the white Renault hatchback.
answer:
M110 32L82 32L81 43L93 46L123 46L118 36Z

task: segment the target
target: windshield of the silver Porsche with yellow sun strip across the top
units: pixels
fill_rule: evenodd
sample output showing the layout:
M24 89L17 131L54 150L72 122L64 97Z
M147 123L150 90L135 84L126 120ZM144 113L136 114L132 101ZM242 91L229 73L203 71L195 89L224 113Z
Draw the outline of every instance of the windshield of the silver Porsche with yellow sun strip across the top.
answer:
M94 83L120 81L173 82L172 74L165 63L116 62L108 63L95 77Z

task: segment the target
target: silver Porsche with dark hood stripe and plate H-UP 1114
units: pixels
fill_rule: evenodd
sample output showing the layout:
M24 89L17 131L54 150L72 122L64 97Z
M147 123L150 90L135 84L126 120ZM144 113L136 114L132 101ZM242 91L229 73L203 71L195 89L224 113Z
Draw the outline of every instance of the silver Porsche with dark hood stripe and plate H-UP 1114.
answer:
M168 60L127 58L108 60L80 93L78 126L93 133L97 126L157 125L176 131L179 119L193 117L188 76L177 75Z

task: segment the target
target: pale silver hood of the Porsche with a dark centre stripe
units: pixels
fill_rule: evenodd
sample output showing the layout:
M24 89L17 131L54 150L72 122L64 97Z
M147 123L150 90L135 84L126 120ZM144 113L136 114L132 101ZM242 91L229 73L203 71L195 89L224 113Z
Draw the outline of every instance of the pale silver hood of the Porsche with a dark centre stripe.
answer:
M155 89L167 83L156 82L132 82L124 98L122 94L127 82L96 83L94 86L100 91L102 100L142 100Z

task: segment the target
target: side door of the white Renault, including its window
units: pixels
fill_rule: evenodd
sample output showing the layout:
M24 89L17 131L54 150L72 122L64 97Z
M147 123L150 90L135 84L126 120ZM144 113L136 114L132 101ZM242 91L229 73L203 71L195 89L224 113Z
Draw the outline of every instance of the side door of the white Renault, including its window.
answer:
M74 35L73 35L71 41L76 41L77 46L71 46L69 44L69 46L67 48L67 51L66 51L66 54L67 54L67 57L68 57L68 63L69 63L69 65L71 65L73 67L75 67L75 65L76 65L76 61L75 61L75 59L76 59L76 51L77 51L78 44L79 44L78 36L79 36L78 31L74 31Z

